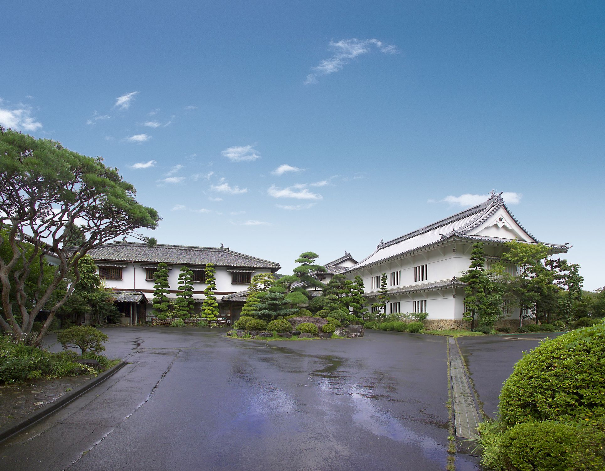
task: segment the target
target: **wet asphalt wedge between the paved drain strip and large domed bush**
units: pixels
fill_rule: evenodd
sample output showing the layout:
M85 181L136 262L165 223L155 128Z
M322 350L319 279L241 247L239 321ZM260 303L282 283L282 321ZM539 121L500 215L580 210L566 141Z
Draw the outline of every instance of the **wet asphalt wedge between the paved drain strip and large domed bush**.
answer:
M523 356L523 352L529 352L541 340L557 335L561 335L561 332L457 338L483 412L491 418L497 415L502 383L511 375L512 367Z

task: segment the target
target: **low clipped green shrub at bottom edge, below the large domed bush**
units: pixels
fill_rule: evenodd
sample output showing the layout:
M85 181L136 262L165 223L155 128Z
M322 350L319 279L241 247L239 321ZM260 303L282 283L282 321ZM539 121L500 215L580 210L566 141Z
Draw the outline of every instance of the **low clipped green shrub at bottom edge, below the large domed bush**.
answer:
M499 454L505 469L566 471L571 450L578 447L578 430L556 422L529 422L507 430Z

